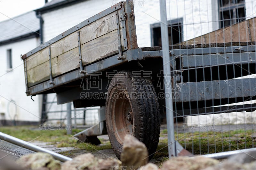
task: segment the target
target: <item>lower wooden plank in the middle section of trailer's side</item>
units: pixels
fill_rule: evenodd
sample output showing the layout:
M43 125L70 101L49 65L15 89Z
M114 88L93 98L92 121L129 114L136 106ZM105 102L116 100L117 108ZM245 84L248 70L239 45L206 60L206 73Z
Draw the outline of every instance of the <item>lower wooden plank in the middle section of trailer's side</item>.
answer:
M52 77L79 68L78 47L52 59Z

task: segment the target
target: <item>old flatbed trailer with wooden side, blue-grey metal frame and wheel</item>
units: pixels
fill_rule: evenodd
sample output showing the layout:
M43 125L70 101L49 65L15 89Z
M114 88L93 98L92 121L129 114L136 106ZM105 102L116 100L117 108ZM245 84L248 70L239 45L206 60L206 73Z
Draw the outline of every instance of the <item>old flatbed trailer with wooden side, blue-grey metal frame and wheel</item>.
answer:
M21 57L28 96L56 93L58 104L106 106L100 124L82 134L100 135L106 127L118 158L132 134L152 158L166 97L173 98L174 117L256 110L236 105L256 99L256 79L244 77L256 73L255 52L255 41L172 45L172 82L165 82L162 47L138 48L133 2L125 1Z

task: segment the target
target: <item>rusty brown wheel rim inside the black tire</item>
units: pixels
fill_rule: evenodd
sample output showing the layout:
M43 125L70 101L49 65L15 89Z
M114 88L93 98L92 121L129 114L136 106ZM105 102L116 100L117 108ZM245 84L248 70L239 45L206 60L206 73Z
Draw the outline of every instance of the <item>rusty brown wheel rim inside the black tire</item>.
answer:
M112 105L112 125L117 141L123 144L126 134L133 133L133 112L129 98L124 91L117 91Z

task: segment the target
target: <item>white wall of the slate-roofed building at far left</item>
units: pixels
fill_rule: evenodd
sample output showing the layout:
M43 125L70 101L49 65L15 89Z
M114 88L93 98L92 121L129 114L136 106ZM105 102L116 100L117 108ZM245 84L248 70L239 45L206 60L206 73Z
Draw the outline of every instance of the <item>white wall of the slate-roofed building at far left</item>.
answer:
M40 120L42 100L40 95L37 95L33 97L33 102L30 96L26 95L23 61L20 60L20 54L26 54L37 45L38 40L31 38L0 46L0 113L4 114L6 120L13 120L15 114L15 120L18 121ZM13 70L10 72L7 72L7 49L12 49ZM17 107L8 100L15 101Z

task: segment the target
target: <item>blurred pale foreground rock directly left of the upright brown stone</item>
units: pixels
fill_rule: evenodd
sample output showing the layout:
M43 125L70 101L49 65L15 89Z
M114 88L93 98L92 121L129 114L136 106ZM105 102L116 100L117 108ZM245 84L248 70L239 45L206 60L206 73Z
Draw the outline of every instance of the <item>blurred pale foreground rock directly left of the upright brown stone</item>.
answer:
M91 153L86 153L66 161L61 165L61 170L109 170L120 169L121 162L116 159L99 159Z

